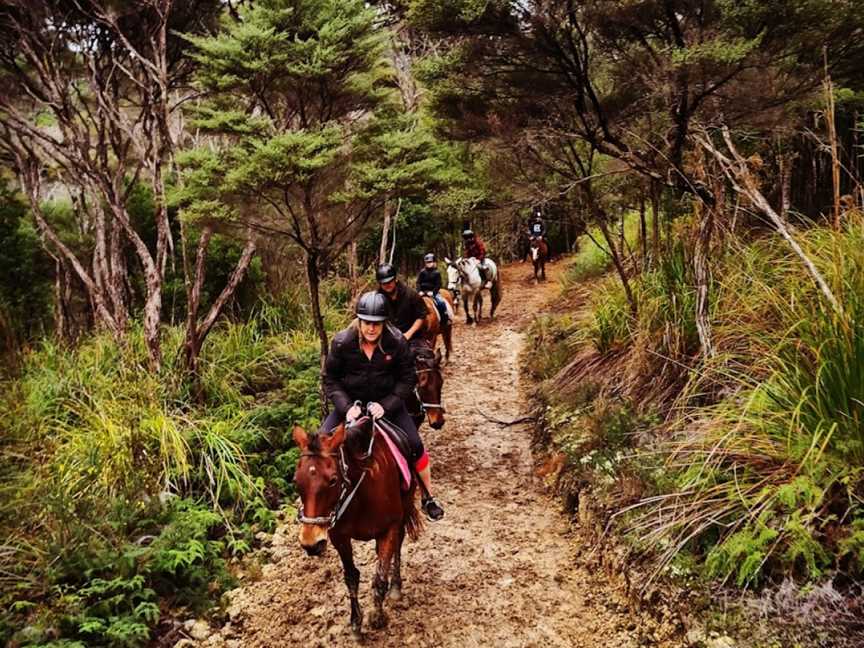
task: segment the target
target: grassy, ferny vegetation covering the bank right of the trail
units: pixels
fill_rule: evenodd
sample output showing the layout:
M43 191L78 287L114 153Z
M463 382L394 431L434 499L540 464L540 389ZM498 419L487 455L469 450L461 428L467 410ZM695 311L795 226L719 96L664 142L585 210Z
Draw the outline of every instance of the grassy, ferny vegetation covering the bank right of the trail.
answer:
M798 233L840 311L779 237L728 236L710 358L691 229L677 223L656 267L632 276L635 316L608 257L585 242L561 312L533 329L545 360L529 365L547 403L537 441L557 453L571 505L592 509L585 531L654 556L651 579L848 589L864 570L864 218Z

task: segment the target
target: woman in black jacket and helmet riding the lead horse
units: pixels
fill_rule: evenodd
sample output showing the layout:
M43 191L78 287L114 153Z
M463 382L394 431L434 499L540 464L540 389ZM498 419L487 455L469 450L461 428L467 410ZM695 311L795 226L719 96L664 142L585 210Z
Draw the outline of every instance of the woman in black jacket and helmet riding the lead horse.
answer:
M414 454L414 469L431 493L429 455L417 426L405 409L417 376L414 355L402 334L387 322L386 297L367 292L357 301L357 319L333 337L330 353L324 361L324 391L333 403L333 411L321 424L332 430L346 419L360 416L359 401L368 404L368 413L387 419L405 430ZM429 495L423 498L423 510L433 520L444 515L444 509Z

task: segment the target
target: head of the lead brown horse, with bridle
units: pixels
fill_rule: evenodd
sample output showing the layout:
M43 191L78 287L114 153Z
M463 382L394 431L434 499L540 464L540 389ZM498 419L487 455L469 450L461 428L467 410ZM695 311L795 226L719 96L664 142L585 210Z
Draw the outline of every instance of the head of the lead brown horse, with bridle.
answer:
M346 428L340 424L330 434L307 434L294 427L294 442L300 448L300 460L294 470L294 483L300 493L302 508L300 546L310 556L320 556L327 547L327 531L335 520L342 484L347 478L341 465Z

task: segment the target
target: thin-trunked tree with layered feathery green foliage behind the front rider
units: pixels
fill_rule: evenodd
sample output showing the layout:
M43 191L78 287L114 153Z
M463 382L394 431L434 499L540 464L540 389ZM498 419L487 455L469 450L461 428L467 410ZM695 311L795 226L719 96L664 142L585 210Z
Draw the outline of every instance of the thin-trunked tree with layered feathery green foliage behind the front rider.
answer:
M434 141L400 114L387 32L361 0L265 0L189 37L207 93L187 152L188 218L286 236L303 252L322 362L323 271L397 193L434 182Z

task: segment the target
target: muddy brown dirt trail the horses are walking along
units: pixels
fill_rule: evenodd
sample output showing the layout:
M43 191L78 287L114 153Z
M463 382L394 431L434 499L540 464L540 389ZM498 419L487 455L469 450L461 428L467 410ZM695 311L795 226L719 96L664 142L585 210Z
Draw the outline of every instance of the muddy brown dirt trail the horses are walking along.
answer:
M522 331L557 294L561 265L536 286L530 264L503 268L494 322L457 319L445 371L447 424L423 426L445 518L403 549L403 596L387 600L389 624L364 623L366 646L677 646L647 613L580 566L588 551L535 476L528 425L501 427L529 404L519 390ZM488 312L488 303L485 305ZM231 593L229 621L199 645L356 646L336 551L310 558L286 521L261 578ZM355 543L361 605L372 610L374 543Z

